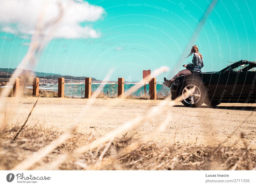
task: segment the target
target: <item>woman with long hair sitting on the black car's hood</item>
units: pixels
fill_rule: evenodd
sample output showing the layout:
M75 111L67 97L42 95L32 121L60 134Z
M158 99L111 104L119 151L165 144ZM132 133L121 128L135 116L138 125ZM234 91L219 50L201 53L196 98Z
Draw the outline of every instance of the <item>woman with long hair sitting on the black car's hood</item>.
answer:
M170 88L174 79L177 78L177 77L180 77L181 75L188 75L188 74L200 73L201 72L201 68L203 68L203 66L204 66L204 61L203 61L203 56L202 56L202 54L200 54L198 52L198 47L196 45L192 46L192 49L191 49L190 54L188 55L188 57L191 56L192 53L194 53L192 63L188 63L188 65L183 65L183 67L186 67L186 69L181 70L171 80L166 80L166 78L164 78L164 85L165 86Z

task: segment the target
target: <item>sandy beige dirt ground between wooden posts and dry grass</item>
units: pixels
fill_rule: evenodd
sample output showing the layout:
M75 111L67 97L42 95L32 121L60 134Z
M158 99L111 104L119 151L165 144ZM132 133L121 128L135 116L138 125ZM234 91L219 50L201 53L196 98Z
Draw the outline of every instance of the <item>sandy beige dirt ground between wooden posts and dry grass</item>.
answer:
M0 119L4 112L12 115L9 125L22 125L36 102L35 97L7 98L5 109L1 109ZM86 104L92 101L92 106L86 112ZM76 131L80 133L95 133L105 135L138 116L145 115L149 109L157 106L161 100L136 99L71 99L71 98L39 98L31 114L27 126L52 128L67 131L77 124ZM188 108L177 103L166 106L165 111L149 118L139 127L133 129L138 136L150 134L152 140L163 143L196 143L204 146L216 146L225 142L225 146L244 147L240 133L244 133L246 143L256 148L256 112L251 111L255 104L221 104L218 109ZM246 106L246 110L241 109ZM18 109L17 109L18 108ZM171 121L161 133L152 133L161 124L166 115Z

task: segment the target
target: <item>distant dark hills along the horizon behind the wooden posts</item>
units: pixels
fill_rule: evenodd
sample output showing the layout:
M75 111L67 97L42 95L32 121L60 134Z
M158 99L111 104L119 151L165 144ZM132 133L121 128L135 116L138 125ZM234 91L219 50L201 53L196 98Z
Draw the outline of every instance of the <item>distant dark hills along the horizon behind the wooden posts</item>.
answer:
M12 73L14 72L16 68L0 68L0 78L10 78ZM28 70L23 70L22 74L26 74ZM61 75L61 74L53 74L53 73L44 73L44 72L34 72L29 70L29 72L32 72L35 74L35 77L44 78L44 79L58 79L59 77L64 77L65 79L72 79L72 80L84 80L86 78L85 76L76 77L76 76L70 76L70 75ZM93 81L95 81L95 78L92 78Z

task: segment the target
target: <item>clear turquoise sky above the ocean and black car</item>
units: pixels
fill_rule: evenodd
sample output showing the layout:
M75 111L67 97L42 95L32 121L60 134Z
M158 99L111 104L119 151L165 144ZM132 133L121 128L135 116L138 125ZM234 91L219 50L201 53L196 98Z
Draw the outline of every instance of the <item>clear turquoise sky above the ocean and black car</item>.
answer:
M160 66L177 72L183 69L175 65L177 59L180 55L186 59L189 54L183 50L211 1L88 2L103 7L106 13L96 22L80 24L90 25L100 37L53 39L42 52L35 71L102 80L109 69L115 68L112 81L118 77L139 81L142 70L153 71ZM194 43L204 57L203 72L218 71L229 61L256 60L255 7L255 0L218 1ZM28 50L24 43L30 39L3 31L0 36L0 43L4 43L0 67L17 67ZM189 57L182 64L191 60ZM162 82L165 76L159 75L157 81Z

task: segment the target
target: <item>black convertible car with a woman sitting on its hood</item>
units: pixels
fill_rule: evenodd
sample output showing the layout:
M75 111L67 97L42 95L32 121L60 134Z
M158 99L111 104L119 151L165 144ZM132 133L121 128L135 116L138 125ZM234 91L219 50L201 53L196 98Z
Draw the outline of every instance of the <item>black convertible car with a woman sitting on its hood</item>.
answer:
M183 105L198 107L203 103L255 103L256 63L241 60L220 70L183 75L171 85L172 100L180 96Z

